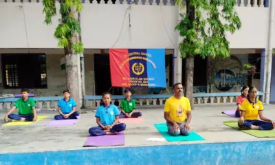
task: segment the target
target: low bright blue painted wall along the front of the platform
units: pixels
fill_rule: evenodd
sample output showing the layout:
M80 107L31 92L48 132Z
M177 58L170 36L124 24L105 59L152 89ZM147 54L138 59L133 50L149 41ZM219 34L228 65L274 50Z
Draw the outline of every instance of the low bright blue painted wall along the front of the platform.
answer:
M8 153L0 155L0 164L274 164L274 145L270 140Z

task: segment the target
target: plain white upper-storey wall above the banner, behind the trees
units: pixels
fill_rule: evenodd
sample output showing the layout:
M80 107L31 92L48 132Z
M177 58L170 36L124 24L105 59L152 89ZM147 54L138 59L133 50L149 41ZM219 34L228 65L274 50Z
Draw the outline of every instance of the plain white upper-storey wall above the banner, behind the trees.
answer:
M133 4L126 12L127 8L129 5L84 3L81 26L85 48L176 47L175 5ZM57 48L53 34L59 15L54 17L52 25L45 25L42 11L42 3L1 3L0 48ZM236 11L242 28L236 34L227 35L230 47L265 48L269 8L236 7Z

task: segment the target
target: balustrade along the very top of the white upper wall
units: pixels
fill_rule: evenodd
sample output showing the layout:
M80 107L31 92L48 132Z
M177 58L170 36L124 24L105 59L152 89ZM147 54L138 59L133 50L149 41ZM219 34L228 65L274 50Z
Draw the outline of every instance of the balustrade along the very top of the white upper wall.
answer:
M8 3L41 3L42 0L0 0ZM82 0L91 4L175 5L175 0ZM268 7L271 0L236 0L240 7Z

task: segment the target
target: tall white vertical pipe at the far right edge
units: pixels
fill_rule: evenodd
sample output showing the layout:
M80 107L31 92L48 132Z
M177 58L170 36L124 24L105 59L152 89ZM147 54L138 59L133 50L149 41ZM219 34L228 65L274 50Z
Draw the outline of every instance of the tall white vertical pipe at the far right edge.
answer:
M265 103L270 104L270 86L272 76L272 36L273 36L273 20L274 20L274 2L270 1L270 29L268 33L267 47L267 73L266 73L266 88L265 88Z

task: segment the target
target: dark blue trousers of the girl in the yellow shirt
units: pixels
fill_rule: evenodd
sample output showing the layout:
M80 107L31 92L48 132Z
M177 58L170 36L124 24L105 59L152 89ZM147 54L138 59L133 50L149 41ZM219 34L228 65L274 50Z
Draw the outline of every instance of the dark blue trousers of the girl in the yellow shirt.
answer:
M243 126L252 129L252 125L259 126L260 130L272 130L274 129L273 124L271 122L265 122L261 120L245 120L243 124L239 124L238 126L241 128Z

